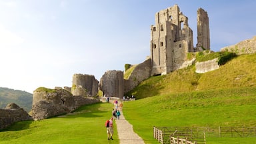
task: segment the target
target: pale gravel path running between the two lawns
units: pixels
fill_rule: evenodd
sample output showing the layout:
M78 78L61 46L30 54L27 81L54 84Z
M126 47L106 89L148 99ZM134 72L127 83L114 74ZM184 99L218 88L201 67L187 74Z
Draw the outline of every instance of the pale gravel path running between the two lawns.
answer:
M118 137L120 139L120 144L144 144L143 139L134 133L133 125L128 123L123 116L123 112L121 112L120 119L117 119L115 123L117 124L117 132Z

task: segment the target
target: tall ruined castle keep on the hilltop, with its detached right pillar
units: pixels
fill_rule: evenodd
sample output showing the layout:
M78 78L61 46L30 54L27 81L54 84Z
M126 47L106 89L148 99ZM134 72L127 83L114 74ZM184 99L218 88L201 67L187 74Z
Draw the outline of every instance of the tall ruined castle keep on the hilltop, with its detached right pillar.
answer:
M200 21L197 25L201 35L200 45L209 49L209 22L203 9L198 12ZM203 46L204 47L204 46ZM181 69L188 52L201 49L193 47L193 31L188 25L188 18L179 10L178 5L161 10L155 14L155 25L151 25L151 75L166 75Z

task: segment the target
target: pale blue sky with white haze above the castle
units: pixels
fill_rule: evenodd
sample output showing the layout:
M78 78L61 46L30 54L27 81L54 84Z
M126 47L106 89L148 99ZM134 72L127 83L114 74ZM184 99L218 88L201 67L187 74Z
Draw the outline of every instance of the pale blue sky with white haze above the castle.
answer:
M0 87L71 87L75 73L123 71L150 55L155 13L177 4L197 43L197 9L211 50L256 35L255 0L0 0Z

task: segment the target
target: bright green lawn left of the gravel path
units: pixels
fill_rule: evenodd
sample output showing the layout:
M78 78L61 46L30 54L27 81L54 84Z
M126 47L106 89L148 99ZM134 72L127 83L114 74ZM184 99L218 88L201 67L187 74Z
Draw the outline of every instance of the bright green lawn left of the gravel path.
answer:
M0 143L119 143L114 125L114 141L107 140L105 121L113 105L97 103L78 109L74 115L22 121L0 132Z

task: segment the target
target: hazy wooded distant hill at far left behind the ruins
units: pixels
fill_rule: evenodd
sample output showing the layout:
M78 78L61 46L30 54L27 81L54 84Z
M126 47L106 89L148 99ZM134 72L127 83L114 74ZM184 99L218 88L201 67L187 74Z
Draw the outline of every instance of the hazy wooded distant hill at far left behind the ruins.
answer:
M0 109L4 109L9 103L16 103L29 112L32 109L32 97L33 94L26 91L0 87Z

